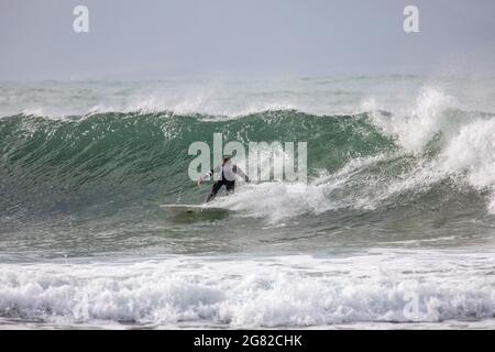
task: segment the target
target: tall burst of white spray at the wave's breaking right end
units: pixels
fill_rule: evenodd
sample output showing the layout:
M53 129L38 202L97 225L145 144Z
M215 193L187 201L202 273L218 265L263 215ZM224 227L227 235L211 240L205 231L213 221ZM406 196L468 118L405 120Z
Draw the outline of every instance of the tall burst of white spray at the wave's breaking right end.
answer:
M420 154L441 135L442 152L437 160L418 167L408 178L428 185L447 177L461 176L477 190L491 193L487 210L495 201L495 119L475 112L461 112L454 97L426 87L409 110L388 117L376 111L374 123L394 138L406 153Z

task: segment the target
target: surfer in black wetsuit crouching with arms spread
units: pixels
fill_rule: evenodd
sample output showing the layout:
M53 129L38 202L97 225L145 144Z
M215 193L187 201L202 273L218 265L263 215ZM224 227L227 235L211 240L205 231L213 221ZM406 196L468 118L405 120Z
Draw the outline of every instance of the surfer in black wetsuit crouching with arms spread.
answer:
M222 164L210 169L208 173L206 173L205 178L209 179L213 174L220 173L219 179L213 184L211 187L211 193L208 195L207 202L211 201L217 197L218 191L222 186L224 185L227 188L227 194L232 194L234 191L235 187L235 175L241 176L244 178L246 183L250 182L250 178L248 175L244 174L244 172L238 167L235 164L232 164L231 156L230 155L223 155L222 156ZM198 178L198 186L200 186L205 179L204 177Z

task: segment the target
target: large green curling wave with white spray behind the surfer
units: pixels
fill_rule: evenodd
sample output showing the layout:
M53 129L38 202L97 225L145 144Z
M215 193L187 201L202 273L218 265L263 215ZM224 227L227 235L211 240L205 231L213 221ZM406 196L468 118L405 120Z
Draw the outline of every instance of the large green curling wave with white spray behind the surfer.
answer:
M51 120L13 116L0 120L4 212L18 205L64 208L67 204L108 202L116 195L140 199L150 193L195 199L187 177L190 143L304 141L309 183L250 185L229 207L272 220L342 208L377 209L430 199L458 200L474 189L476 202L493 212L495 118L450 105L439 92L418 98L407 117L381 110L353 116L315 116L268 110L237 118L107 112ZM36 194L37 193L37 194ZM34 194L34 195L33 195ZM266 201L257 202L263 197ZM41 200L33 200L34 198ZM183 198L183 199L184 199ZM65 206L57 207L58 204ZM50 206L48 206L50 204Z

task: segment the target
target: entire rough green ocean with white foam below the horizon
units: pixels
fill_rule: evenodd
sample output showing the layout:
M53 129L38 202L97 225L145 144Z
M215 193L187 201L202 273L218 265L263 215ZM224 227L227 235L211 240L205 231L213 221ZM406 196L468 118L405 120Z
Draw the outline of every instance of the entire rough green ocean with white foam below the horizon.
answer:
M0 329L495 328L495 77L0 82ZM191 143L306 142L307 185ZM302 191L300 190L302 189Z

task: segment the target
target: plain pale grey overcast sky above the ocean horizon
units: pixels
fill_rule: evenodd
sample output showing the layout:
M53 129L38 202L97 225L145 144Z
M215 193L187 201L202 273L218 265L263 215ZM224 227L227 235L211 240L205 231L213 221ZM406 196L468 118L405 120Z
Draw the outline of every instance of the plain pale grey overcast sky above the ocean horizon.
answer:
M493 76L494 19L493 0L0 0L0 80Z

